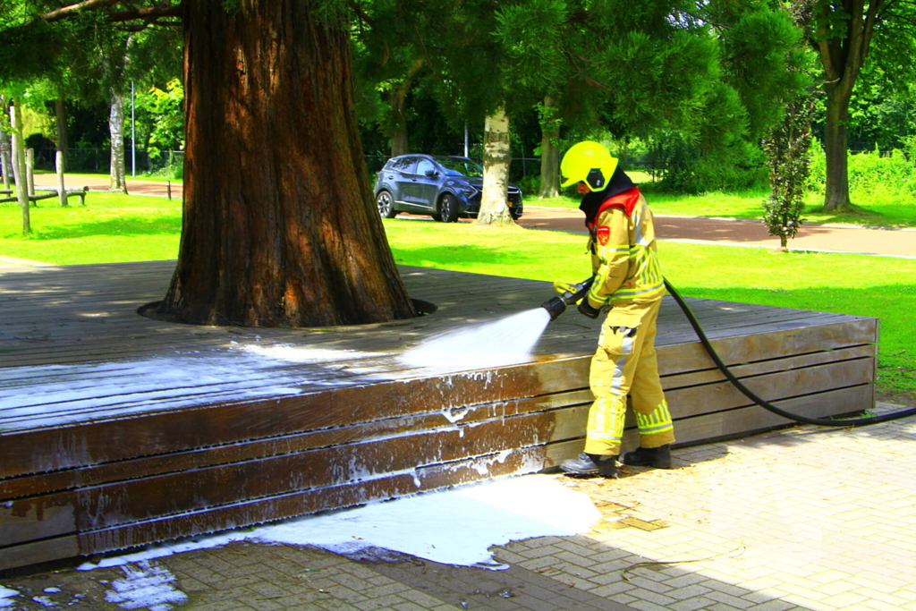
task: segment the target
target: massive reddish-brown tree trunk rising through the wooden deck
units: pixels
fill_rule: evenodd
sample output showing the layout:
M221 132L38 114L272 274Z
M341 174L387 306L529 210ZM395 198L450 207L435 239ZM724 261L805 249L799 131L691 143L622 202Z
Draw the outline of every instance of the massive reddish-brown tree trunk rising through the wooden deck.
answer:
M415 315L372 198L346 28L304 0L183 6L184 219L158 315L283 327Z

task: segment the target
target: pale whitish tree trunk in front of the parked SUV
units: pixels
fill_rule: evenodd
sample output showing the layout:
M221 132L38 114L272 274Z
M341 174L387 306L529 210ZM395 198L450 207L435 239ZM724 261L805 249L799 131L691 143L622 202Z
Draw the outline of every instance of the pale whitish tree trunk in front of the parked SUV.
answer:
M509 117L499 108L484 125L484 192L477 224L515 224L507 205L511 162Z

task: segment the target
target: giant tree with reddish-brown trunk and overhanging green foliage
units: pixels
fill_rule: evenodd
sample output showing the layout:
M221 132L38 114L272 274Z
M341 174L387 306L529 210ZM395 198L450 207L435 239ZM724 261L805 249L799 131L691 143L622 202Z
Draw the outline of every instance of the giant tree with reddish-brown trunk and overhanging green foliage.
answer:
M806 84L800 31L765 0L0 0L0 14L0 83L46 75L90 33L129 52L180 27L185 224L158 311L185 322L412 315L357 104L393 149L409 146L405 102L421 91L455 131L540 104L551 130L650 139L695 173L759 150ZM114 91L125 70L99 80Z

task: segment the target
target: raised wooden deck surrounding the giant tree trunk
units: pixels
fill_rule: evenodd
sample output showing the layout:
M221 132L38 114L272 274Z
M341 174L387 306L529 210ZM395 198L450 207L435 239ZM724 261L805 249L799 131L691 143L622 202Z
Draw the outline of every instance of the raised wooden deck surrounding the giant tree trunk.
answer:
M156 322L174 262L0 272L0 570L539 471L581 451L598 322L531 362L412 368L405 347L537 307L549 283L403 267L411 321L270 330ZM690 300L726 363L784 409L874 404L875 319ZM751 406L666 298L679 443L786 423ZM627 432L625 447L636 443Z

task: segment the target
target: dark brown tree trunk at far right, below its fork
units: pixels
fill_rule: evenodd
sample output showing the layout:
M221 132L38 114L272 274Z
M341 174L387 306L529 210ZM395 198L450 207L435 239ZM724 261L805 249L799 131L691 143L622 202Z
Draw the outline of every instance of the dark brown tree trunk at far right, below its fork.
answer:
M846 131L849 118L849 99L837 86L828 84L827 117L823 126L823 148L827 165L823 209L849 210L849 136Z

